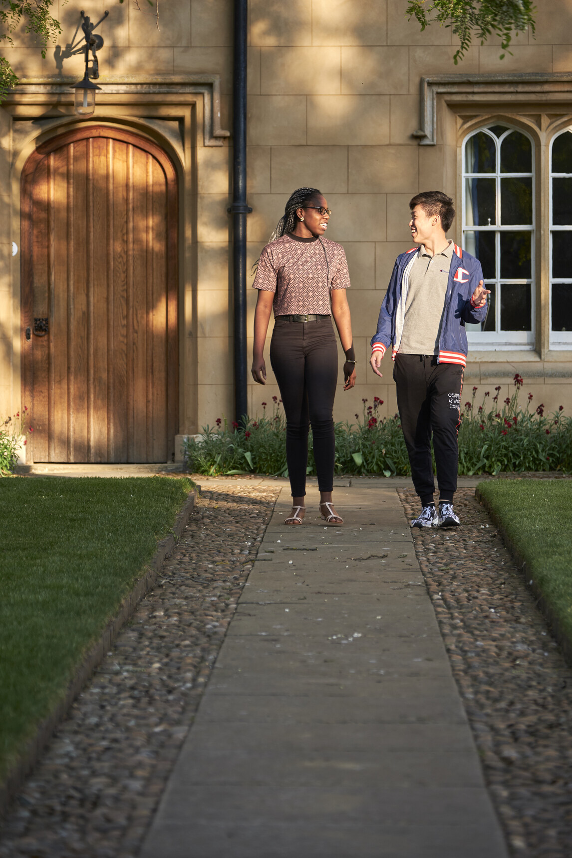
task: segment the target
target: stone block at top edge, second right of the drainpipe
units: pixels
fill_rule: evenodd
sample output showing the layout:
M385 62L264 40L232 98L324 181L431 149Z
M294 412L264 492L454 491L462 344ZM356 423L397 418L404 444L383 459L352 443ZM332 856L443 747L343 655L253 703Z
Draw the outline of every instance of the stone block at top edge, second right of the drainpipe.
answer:
M385 45L387 12L379 0L314 0L313 45Z

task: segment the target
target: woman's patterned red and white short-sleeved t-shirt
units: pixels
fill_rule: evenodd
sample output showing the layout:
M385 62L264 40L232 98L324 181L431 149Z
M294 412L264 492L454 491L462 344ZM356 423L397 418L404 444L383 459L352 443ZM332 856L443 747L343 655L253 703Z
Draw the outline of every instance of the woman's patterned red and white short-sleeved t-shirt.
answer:
M329 290L350 285L346 253L329 239L299 239L289 233L266 245L252 287L274 292L274 316L330 316Z

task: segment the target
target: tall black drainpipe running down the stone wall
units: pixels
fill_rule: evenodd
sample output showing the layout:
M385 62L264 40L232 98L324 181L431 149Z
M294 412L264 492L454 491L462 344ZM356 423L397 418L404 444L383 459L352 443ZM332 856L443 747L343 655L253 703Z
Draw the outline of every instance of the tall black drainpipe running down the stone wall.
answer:
M234 0L232 76L232 287L234 294L234 419L248 414L246 360L246 40L248 0Z

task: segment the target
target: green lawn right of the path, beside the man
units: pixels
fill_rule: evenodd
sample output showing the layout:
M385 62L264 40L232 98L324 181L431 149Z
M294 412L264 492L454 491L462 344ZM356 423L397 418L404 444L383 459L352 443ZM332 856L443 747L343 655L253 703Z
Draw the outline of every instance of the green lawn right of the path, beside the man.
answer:
M572 482L491 480L479 492L572 641Z

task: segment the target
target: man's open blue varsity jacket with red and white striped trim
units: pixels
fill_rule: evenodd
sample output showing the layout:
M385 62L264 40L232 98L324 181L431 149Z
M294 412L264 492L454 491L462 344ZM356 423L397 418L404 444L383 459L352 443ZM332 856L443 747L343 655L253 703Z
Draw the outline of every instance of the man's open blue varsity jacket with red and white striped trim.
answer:
M377 332L371 338L371 351L385 353L392 346L392 358L399 352L405 305L407 284L409 281L409 266L418 256L419 247L401 253L397 257L393 274L389 281L388 291L382 301L382 309L377 320ZM483 280L483 269L478 259L467 251L462 251L459 245L453 245L449 282L445 294L443 323L439 338L439 354L437 363L467 364L467 332L465 323L483 322L486 316L486 305L473 305L472 295Z

